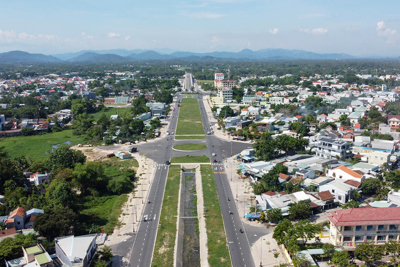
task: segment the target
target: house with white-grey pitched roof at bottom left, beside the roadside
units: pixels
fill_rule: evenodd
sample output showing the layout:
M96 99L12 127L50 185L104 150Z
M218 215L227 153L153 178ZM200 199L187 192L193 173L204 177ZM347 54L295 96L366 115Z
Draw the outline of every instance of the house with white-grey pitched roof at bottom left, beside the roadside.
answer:
M88 267L96 253L97 234L55 238L57 257L64 266Z

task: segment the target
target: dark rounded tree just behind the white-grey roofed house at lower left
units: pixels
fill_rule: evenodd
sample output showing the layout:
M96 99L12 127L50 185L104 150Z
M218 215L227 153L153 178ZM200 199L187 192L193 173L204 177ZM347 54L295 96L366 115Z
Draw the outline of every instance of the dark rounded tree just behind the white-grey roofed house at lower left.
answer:
M46 210L35 218L33 229L52 241L56 237L67 235L76 219L77 215L68 208Z

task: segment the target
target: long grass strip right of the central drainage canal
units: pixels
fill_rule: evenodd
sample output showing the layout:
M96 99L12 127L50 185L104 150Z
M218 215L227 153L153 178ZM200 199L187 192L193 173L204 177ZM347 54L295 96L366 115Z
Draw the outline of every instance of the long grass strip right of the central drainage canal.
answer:
M226 246L225 228L212 167L211 165L201 165L200 171L203 185L204 209L208 210L205 213L209 251L208 263L211 267L232 266L228 247Z

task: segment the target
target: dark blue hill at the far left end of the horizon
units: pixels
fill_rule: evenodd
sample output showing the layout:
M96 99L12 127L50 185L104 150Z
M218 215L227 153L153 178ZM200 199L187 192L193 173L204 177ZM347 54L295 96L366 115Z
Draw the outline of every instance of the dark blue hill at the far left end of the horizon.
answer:
M0 53L0 64L17 64L17 63L59 63L62 60L43 54L31 54L23 51L10 51Z

